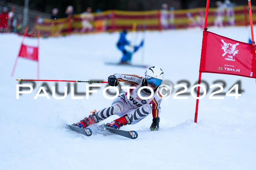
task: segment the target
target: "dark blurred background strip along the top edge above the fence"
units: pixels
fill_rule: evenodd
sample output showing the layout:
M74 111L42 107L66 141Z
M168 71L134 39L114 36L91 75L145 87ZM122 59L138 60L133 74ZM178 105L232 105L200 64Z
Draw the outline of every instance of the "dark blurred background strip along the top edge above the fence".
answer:
M216 1L217 0L210 0L210 7L216 7ZM224 0L221 1L223 2ZM237 5L248 5L248 2L245 0L230 1ZM24 0L5 0L5 2L24 5ZM169 7L174 7L175 9L206 7L206 0L30 0L29 9L51 13L53 8L58 8L60 17L63 17L68 5L74 7L75 13L82 13L86 11L87 7L91 7L93 12L97 9L100 9L101 11L109 9L146 11L161 9L163 3L166 3Z

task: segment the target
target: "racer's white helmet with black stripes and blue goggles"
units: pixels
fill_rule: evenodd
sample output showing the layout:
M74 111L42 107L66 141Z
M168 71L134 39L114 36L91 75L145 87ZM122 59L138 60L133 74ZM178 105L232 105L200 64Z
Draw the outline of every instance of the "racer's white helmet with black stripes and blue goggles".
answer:
M149 67L145 72L147 83L154 84L156 87L163 82L163 70L158 66Z

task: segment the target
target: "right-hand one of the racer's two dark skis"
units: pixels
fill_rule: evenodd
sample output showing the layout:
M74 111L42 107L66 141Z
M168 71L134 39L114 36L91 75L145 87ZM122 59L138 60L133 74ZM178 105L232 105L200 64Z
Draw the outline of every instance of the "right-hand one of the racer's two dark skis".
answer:
M100 131L107 131L109 133L113 133L113 134L116 134L116 135L120 135L120 136L123 136L123 137L127 137L127 138L130 138L130 139L136 139L138 138L138 133L136 131L125 131L125 130L119 130L119 129L114 129L113 127L108 127L106 125L101 125L101 126L98 126L98 130Z

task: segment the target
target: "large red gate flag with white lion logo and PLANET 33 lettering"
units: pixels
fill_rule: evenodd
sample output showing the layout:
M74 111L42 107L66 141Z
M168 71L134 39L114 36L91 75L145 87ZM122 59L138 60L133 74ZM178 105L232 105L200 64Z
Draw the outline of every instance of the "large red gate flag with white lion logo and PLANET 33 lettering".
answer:
M255 46L203 31L199 72L256 78Z

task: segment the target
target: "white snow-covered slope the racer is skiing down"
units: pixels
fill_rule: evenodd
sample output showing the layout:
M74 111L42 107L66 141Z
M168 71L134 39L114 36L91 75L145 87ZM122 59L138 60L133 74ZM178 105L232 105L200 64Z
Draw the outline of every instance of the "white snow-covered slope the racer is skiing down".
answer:
M248 41L246 27L208 31ZM198 80L202 34L201 29L146 32L144 64L161 67L165 82L173 86L190 83L190 93ZM142 33L137 35L139 43ZM143 76L144 68L104 64L120 59L118 37L119 33L101 33L40 38L40 79L106 81L115 73ZM131 37L128 33L127 38ZM210 100L209 90L199 100L197 124L193 123L196 100L191 95L188 99L173 99L176 91L172 86L172 95L161 104L159 131L149 131L149 115L138 124L122 127L136 130L139 137L135 140L103 136L95 127L91 127L94 134L86 137L65 129L64 123L78 122L90 111L109 106L112 100L102 95L106 84L89 99L84 94L76 95L84 99L71 99L69 92L67 98L57 100L50 93L50 99L34 99L44 83L36 82L32 93L16 99L19 82L15 79L36 79L37 64L19 58L11 77L22 37L7 33L0 34L0 40L0 169L256 169L255 79L203 73L202 80L209 86L224 81L226 93L240 81L244 92L238 99L224 96L222 100ZM37 40L26 38L25 43L36 45ZM142 62L141 52L133 56L132 63ZM65 86L77 86L79 93L86 92L86 83L44 85L50 91L53 86L59 92L64 92ZM116 118L111 116L101 123Z

